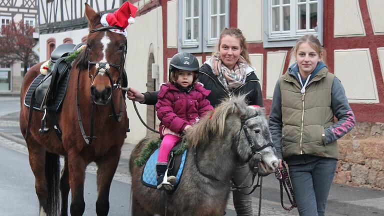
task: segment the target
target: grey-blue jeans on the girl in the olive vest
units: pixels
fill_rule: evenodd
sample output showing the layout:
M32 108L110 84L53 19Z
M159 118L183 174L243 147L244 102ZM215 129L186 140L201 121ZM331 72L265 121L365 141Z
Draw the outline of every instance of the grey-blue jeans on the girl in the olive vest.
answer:
M301 164L288 164L289 176L300 216L323 216L332 184L336 159L321 157Z

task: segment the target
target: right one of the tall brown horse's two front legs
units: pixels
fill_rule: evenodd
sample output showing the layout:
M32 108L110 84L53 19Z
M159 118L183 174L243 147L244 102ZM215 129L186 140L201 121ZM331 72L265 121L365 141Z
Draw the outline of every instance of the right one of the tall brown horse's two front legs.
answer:
M97 163L97 201L96 214L97 216L108 215L109 211L109 189L114 172L116 171L118 160L120 158L120 147L112 146L106 155Z

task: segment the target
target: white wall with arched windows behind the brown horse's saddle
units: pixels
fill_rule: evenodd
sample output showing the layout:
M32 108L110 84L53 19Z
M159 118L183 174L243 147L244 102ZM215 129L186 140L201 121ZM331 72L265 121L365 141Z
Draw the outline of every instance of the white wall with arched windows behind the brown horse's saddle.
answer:
M66 32L59 33L50 33L50 34L40 34L39 42L40 42L40 56L39 61L46 60L46 40L49 37L54 37L56 39L56 47L62 44L62 40L65 37L70 37L73 40L73 43L77 44L81 42L81 38L85 35L88 35L88 28L71 30Z

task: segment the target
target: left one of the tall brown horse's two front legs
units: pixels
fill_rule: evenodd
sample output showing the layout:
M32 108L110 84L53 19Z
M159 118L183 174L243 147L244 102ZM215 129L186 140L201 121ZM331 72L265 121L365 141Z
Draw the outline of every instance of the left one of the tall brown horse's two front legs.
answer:
M68 151L68 174L71 190L70 215L81 216L84 213L84 180L86 163L79 152L72 148Z

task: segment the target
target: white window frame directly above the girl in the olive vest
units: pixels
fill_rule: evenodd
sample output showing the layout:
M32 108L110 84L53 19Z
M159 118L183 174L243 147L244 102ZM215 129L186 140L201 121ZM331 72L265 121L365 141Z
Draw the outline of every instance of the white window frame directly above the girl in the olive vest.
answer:
M303 3L308 3L306 0ZM264 0L263 2L263 46L267 47L289 47L293 46L296 40L305 34L312 33L319 39L322 44L322 32L323 32L323 0L317 0L317 26L313 29L309 30L298 30L298 12L297 7L301 2L297 2L297 0L290 0L290 24L289 31L283 31L280 33L272 32L272 14L271 14L271 0ZM280 7L282 5L282 0L280 0ZM280 10L281 11L281 10ZM281 15L281 13L279 13ZM281 18L279 19L281 26ZM293 31L292 31L293 29Z

